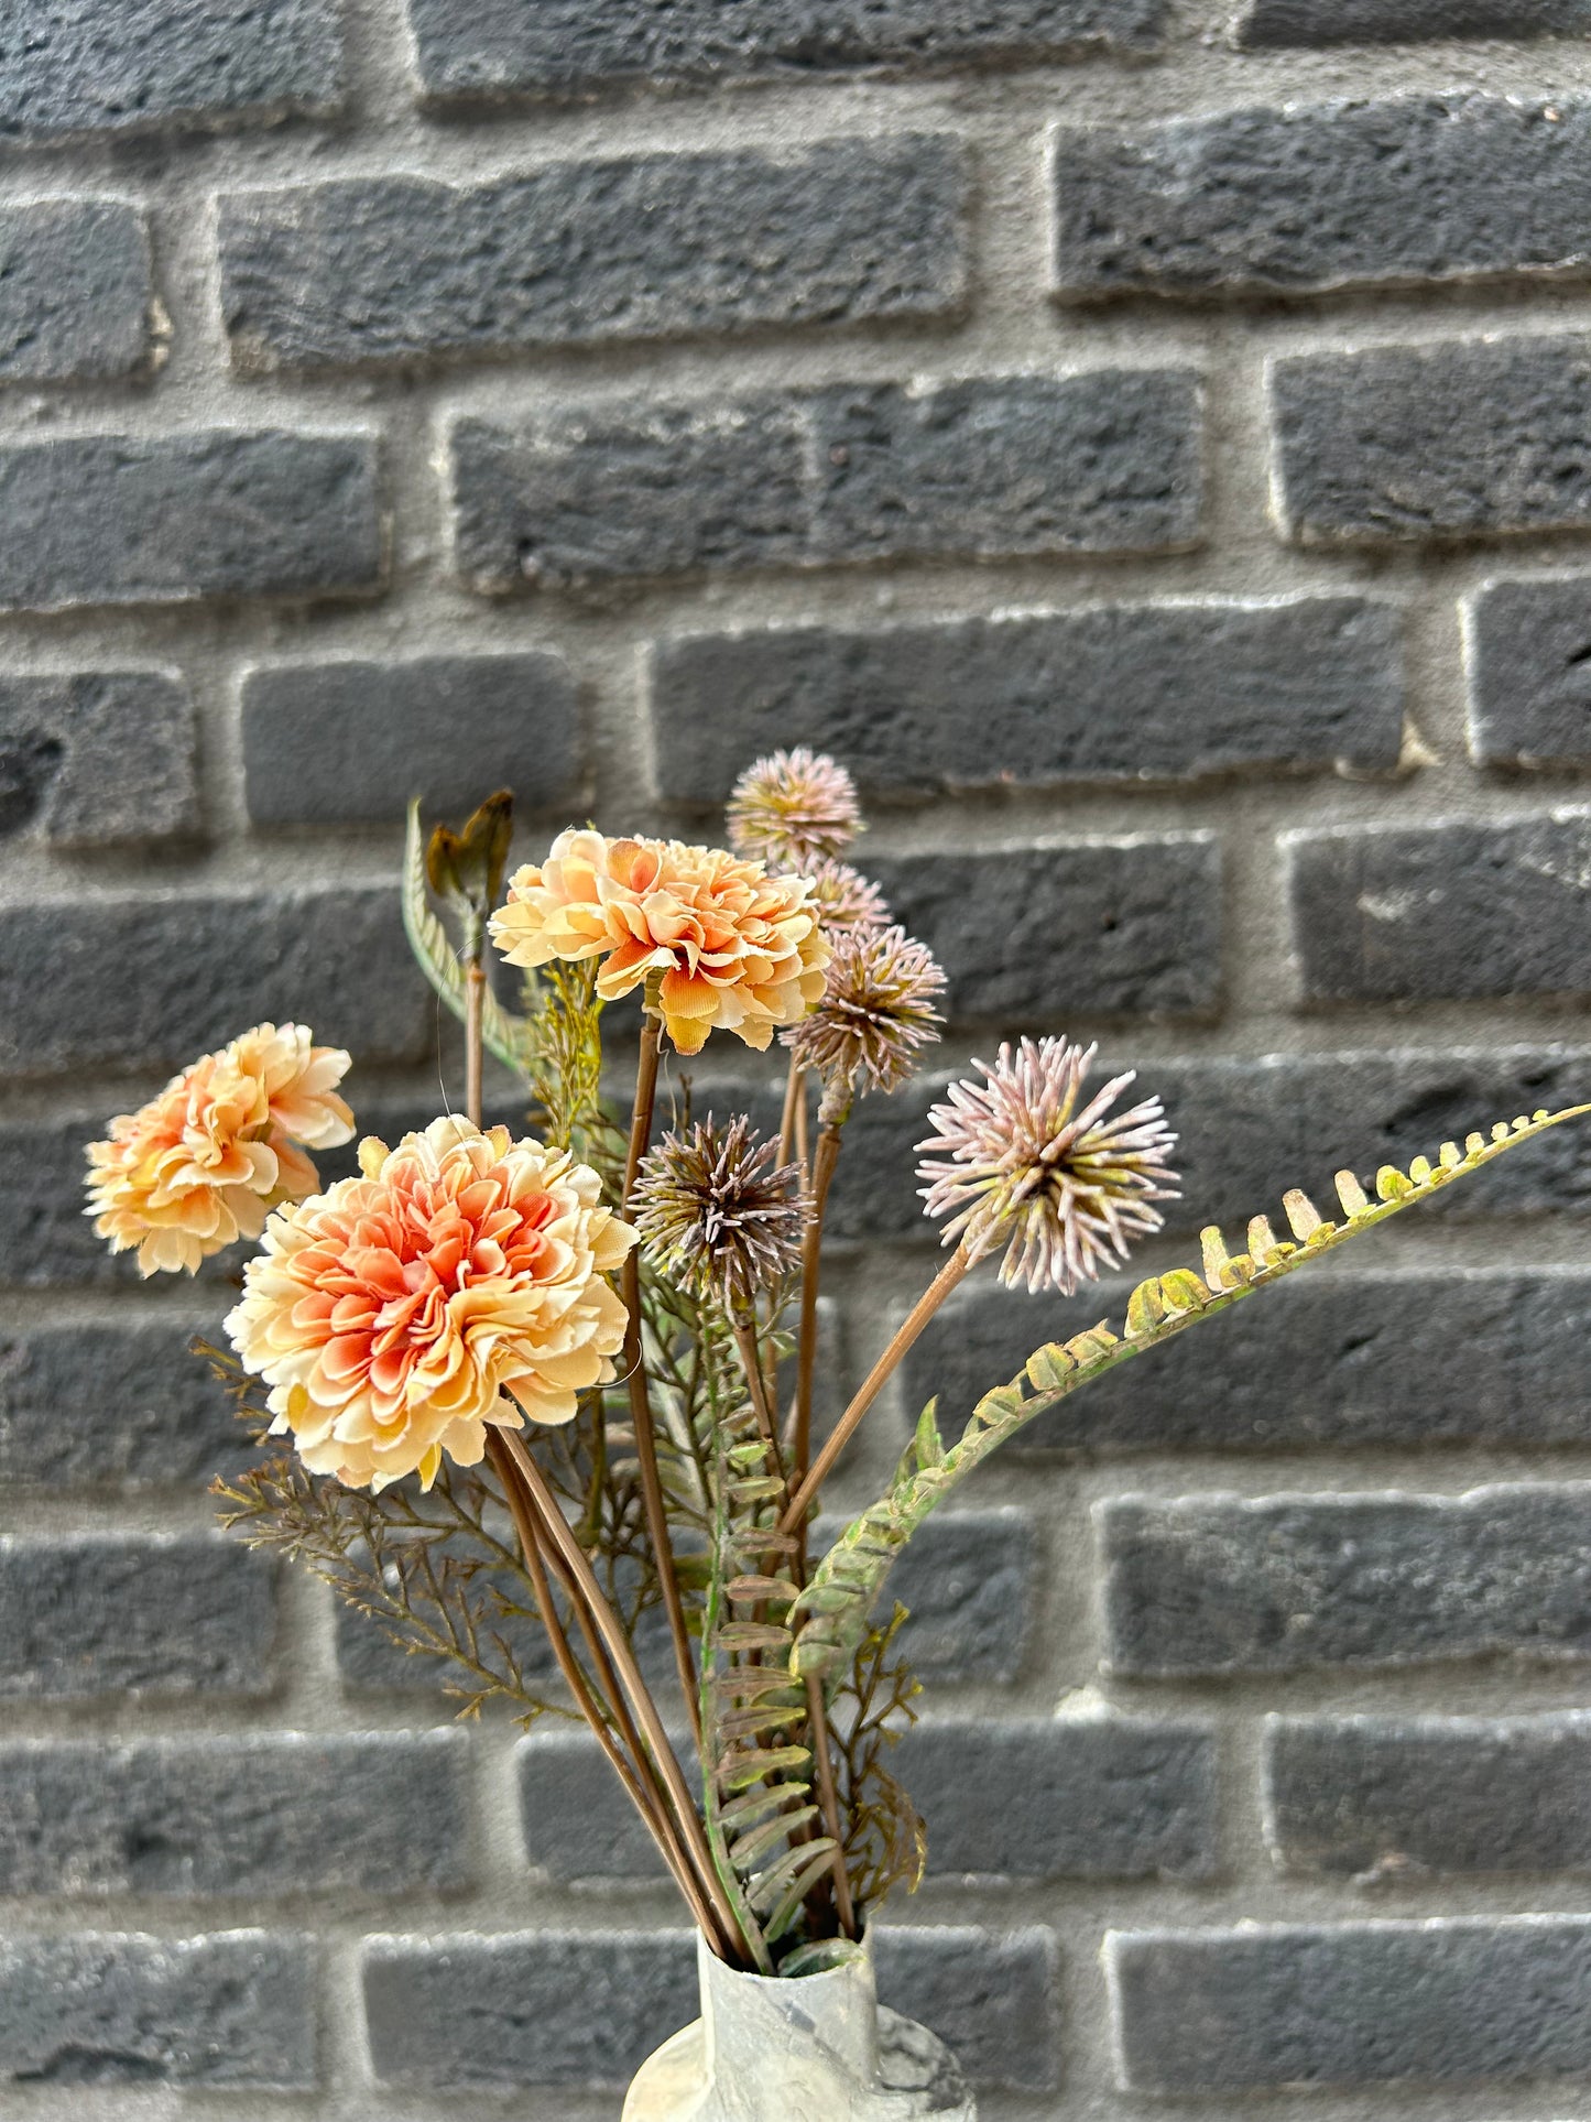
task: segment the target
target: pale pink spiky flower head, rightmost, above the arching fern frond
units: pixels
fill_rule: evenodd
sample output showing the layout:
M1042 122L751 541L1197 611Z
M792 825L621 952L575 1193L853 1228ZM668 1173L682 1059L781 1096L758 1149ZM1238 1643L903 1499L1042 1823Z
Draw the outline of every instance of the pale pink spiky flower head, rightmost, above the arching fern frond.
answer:
M1109 1114L1133 1074L1116 1076L1082 1110L1082 1082L1097 1046L1022 1040L999 1048L982 1082L955 1082L929 1112L933 1135L919 1150L938 1154L916 1167L929 1216L950 1216L944 1243L961 1237L974 1254L993 1252L1010 1233L999 1267L1003 1284L1061 1290L1103 1267L1120 1267L1129 1243L1158 1231L1152 1201L1175 1201L1167 1156L1175 1135L1158 1097ZM1165 1184L1171 1182L1171 1184Z

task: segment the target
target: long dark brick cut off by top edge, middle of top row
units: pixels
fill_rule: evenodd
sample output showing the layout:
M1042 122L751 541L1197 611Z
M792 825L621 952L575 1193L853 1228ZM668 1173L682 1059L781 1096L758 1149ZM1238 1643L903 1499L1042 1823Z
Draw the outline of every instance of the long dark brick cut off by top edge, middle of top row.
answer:
M571 95L624 83L834 79L889 68L1042 64L1160 45L1165 0L817 0L789 15L687 0L409 0L424 91Z

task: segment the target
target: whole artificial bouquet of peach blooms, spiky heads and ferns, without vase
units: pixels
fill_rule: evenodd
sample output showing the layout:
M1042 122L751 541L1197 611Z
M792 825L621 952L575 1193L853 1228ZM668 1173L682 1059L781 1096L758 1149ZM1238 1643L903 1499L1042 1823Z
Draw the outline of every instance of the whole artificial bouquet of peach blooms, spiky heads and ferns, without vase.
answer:
M98 1231L144 1273L257 1241L229 1362L278 1443L221 1488L227 1524L448 1662L467 1710L583 1717L706 1950L779 1978L842 1963L923 1869L889 1772L914 1683L878 1596L927 1513L1067 1394L1568 1118L1370 1186L1339 1171L1341 1214L1290 1193L1288 1237L1256 1216L1228 1252L1207 1229L1199 1271L1039 1347L959 1439L929 1405L887 1492L819 1555L823 1481L950 1290L999 1254L1003 1282L1073 1292L1175 1188L1160 1101L1122 1108L1131 1076L1095 1089L1092 1048L1022 1040L976 1063L921 1144L944 1263L815 1447L829 1184L857 1101L899 1091L938 1038L944 987L842 862L859 823L842 768L776 753L736 787L730 849L569 830L503 891L505 796L429 842L416 813L403 912L465 1027L465 1112L367 1137L356 1176L320 1190L305 1152L352 1137L348 1055L261 1025L89 1150ZM515 1008L490 946L524 976ZM613 1101L622 997L641 1029ZM660 1118L660 1053L713 1036L779 1053L776 1137L692 1112L687 1084ZM524 1082L524 1133L482 1125L484 1053ZM558 1689L524 1670L530 1625ZM639 1655L658 1636L664 1679Z

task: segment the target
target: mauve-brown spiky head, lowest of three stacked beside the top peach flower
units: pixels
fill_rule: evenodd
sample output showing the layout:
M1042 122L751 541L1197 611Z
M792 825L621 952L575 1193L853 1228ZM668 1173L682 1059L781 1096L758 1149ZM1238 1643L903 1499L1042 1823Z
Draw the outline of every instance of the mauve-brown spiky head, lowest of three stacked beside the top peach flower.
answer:
M899 1091L940 1036L944 974L906 929L842 929L823 999L781 1038L802 1067L849 1091Z

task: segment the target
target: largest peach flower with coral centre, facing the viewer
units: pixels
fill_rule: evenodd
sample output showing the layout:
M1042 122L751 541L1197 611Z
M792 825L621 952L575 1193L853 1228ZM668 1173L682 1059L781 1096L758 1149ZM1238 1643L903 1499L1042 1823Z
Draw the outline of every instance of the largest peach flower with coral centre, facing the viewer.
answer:
M486 1424L569 1422L607 1384L626 1311L602 1280L634 1231L590 1165L507 1127L441 1118L361 1178L265 1224L227 1333L312 1473L429 1488L479 1464Z

